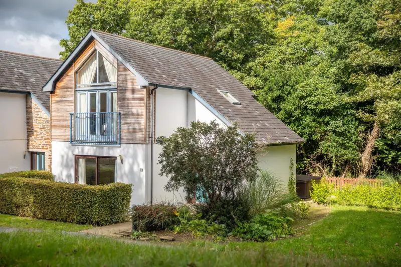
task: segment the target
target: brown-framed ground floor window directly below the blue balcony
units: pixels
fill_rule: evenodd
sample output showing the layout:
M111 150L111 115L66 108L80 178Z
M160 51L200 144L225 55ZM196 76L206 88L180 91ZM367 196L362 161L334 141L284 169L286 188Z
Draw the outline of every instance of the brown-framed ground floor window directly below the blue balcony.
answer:
M115 182L116 157L75 156L75 183L99 185Z

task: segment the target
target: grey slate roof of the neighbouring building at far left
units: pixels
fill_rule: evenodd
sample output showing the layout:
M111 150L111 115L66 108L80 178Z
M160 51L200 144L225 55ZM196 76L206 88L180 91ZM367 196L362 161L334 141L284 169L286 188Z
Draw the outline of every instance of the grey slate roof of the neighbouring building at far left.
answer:
M49 111L50 94L42 87L62 61L0 50L0 90L32 93Z

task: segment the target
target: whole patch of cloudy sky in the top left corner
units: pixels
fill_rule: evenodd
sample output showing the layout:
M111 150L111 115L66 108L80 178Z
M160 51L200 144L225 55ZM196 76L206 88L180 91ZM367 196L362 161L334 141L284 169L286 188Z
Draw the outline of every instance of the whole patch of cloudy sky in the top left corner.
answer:
M68 38L65 21L75 3L76 0L0 0L0 50L59 58L60 39Z

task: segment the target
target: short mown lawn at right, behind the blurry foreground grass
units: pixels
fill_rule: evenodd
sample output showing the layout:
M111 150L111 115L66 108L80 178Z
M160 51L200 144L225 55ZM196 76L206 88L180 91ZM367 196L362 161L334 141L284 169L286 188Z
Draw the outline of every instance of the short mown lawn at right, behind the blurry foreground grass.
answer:
M218 250L261 250L328 258L386 261L401 265L401 212L367 207L333 206L328 216L294 238L267 242L231 242L226 245L195 241L192 246ZM302 231L302 229L301 229ZM396 245L399 244L399 245ZM395 265L395 264L394 264Z

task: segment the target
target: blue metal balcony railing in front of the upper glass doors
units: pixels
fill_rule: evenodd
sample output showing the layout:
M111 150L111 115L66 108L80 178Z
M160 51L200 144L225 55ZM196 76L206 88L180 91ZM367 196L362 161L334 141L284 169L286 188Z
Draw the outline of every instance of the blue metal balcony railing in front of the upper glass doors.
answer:
M120 145L120 112L70 113L70 143Z

